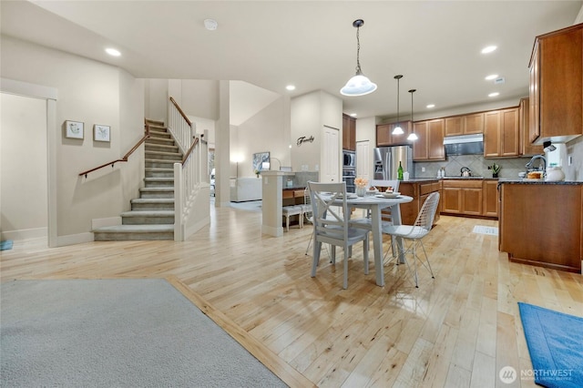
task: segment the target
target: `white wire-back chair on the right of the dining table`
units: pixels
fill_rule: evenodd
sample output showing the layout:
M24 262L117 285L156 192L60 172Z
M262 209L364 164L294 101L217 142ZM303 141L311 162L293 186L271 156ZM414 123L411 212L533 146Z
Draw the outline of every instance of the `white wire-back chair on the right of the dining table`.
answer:
M431 230L434 219L435 219L435 210L437 209L437 205L439 204L439 193L434 192L431 193L427 199L425 199L419 214L417 215L417 220L415 220L414 225L384 225L383 226L383 233L388 234L394 238L402 238L404 240L410 240L409 247L402 254L399 254L397 262L404 262L407 264L407 268L412 275L414 276L415 280L415 287L419 288L419 283L417 281L417 260L431 273L431 277L435 279L434 271L431 269L431 264L429 263L429 257L427 256L427 252L425 252L425 248L423 246L422 239L429 234ZM423 253L425 255L425 262L421 260L421 258L417 255L417 246L421 246ZM394 244L392 244L394 246ZM407 261L407 254L413 254L413 271L411 270L411 266L409 261Z

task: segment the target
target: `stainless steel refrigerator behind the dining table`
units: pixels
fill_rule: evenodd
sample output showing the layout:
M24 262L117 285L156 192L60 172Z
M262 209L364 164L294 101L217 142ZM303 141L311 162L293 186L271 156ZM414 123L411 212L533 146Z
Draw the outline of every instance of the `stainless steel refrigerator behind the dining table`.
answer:
M409 178L414 178L413 148L411 146L394 146L374 148L373 179L397 179L399 162L403 171L409 172Z

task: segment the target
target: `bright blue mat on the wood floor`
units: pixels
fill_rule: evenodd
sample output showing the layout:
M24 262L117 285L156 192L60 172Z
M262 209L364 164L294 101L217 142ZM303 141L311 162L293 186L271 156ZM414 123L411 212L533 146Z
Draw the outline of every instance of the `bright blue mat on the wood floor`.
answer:
M583 387L583 318L518 302L535 383Z

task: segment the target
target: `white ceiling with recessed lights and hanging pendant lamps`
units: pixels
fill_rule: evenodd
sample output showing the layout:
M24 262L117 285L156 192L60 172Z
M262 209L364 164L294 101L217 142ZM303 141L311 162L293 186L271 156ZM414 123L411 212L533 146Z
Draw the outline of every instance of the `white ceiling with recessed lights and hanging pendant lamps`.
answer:
M583 1L40 1L0 2L1 32L126 69L134 77L228 79L263 101L322 89L357 117L478 105L528 94L535 36L577 19ZM214 31L203 21L218 22ZM360 63L378 89L344 97ZM489 55L484 46L496 45ZM114 46L122 56L107 56ZM486 81L490 74L504 84ZM285 87L296 89L289 92ZM245 98L241 87L236 95ZM251 97L248 99L252 99Z

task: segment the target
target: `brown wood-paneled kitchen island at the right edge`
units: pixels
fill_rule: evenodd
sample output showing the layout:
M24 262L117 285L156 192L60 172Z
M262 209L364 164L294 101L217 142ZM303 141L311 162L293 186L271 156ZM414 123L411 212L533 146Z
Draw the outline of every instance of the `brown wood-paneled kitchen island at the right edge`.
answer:
M500 179L498 246L510 261L581 272L583 182Z

